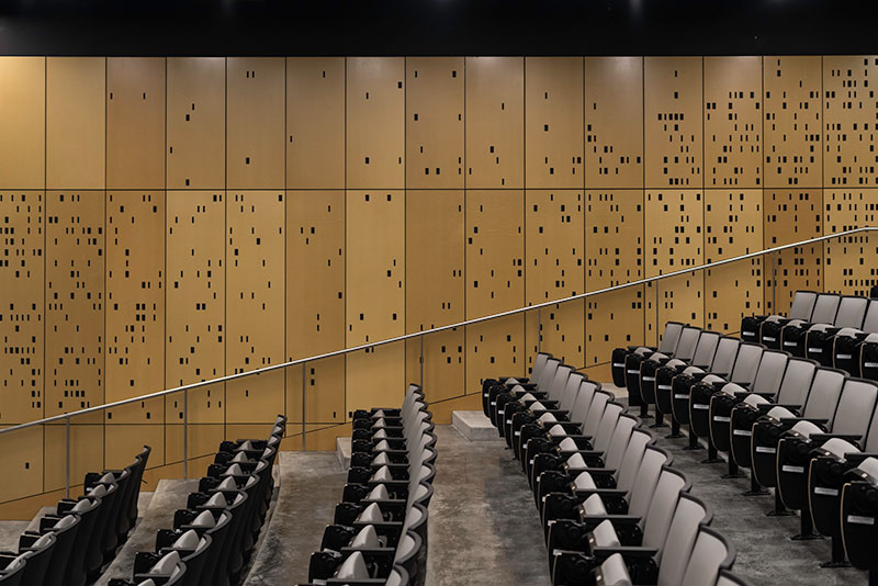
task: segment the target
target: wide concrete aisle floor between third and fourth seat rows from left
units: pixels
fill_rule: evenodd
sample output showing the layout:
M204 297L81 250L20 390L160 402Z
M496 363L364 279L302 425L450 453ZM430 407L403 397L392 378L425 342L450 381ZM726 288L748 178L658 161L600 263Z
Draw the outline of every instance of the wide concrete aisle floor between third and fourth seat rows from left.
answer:
M427 586L550 584L533 496L506 443L436 433Z

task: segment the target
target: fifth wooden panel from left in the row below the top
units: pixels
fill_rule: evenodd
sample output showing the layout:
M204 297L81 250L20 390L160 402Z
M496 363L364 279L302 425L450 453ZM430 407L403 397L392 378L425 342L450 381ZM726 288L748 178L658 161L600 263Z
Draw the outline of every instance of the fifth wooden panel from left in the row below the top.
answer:
M280 191L226 195L226 373L284 357L284 218ZM273 421L283 412L282 371L226 384L226 422Z

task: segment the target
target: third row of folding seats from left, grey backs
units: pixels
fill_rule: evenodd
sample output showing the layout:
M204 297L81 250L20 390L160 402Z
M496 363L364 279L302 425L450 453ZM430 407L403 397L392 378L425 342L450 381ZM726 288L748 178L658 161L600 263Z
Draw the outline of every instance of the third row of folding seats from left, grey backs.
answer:
M351 427L348 482L311 557L308 584L423 586L436 476L424 392L409 385L401 407L354 412Z

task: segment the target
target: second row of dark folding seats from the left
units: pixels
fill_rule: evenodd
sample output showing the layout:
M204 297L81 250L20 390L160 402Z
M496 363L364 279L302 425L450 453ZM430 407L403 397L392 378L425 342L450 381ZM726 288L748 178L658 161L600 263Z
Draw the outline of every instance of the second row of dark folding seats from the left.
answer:
M173 527L156 533L154 551L136 553L131 579L114 578L111 586L238 584L270 506L285 429L279 415L268 439L223 441Z

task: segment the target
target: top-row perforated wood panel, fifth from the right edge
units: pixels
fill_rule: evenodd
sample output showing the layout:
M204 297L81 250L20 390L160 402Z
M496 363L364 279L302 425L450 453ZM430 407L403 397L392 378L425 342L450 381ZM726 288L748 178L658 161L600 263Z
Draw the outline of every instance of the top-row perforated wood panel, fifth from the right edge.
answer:
M643 58L585 58L585 184L643 187Z

